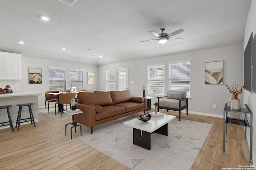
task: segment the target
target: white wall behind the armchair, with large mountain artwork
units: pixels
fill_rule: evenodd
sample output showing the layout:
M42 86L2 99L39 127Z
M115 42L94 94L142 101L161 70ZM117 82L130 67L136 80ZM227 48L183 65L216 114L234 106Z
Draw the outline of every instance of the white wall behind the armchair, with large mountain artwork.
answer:
M154 57L137 61L99 66L99 89L106 89L105 71L113 68L129 68L129 90L133 96L142 96L141 84L147 83L147 65L165 63L165 94L168 91L168 63L191 61L191 100L188 101L190 113L223 117L225 103L231 98L224 85L204 84L204 64L210 61L224 61L224 82L231 85L235 81L243 85L243 49L242 44L214 49L193 51L164 57ZM134 81L134 84L131 84ZM243 101L243 96L238 96ZM151 105L157 98L151 100ZM216 104L216 109L212 105Z

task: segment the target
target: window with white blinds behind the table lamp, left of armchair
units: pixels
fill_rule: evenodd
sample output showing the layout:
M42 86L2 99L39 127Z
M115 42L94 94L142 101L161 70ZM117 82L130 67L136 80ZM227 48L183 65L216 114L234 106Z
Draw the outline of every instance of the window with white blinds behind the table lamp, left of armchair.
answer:
M164 95L164 64L148 66L148 95Z

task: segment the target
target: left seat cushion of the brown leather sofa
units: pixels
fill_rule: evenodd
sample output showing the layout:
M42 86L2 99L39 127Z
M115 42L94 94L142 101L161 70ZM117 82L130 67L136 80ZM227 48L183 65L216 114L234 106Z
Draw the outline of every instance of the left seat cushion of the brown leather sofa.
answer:
M119 106L104 106L100 113L96 113L96 121L106 119L108 117L113 117L125 113L124 107Z

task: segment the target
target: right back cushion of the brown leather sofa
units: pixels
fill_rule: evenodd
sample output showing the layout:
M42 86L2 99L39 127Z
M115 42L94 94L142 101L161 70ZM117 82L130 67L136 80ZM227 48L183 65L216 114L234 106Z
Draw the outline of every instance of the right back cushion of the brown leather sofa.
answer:
M130 90L124 90L124 91L111 91L110 92L112 100L113 100L113 105L119 104L119 103L124 103L124 102L130 102L132 98L132 94Z

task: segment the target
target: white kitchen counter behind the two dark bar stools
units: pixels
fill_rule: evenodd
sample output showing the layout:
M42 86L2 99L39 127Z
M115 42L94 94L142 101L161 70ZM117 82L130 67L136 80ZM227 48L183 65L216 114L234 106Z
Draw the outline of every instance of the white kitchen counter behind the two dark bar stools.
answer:
M25 103L33 103L31 106L32 112L34 115L34 119L38 121L38 95L42 93L37 92L12 92L7 94L0 94L0 106L12 105L10 107L10 115L12 117L12 123L14 125L14 131L16 131L16 119L18 115L19 107L17 104L25 104ZM21 118L29 117L28 107L22 107ZM8 115L6 109L0 109L0 122L8 121ZM28 121L27 123L30 123ZM21 123L21 125L24 123ZM10 128L10 126L0 127L2 128ZM20 131L22 130L22 126L20 127Z

